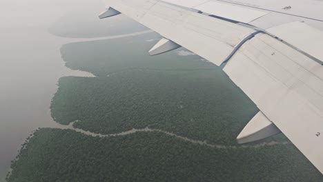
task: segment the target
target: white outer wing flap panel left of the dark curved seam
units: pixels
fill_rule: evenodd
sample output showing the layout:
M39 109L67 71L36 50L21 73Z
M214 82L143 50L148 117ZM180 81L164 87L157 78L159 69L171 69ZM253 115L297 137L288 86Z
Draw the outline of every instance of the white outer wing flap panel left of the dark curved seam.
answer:
M216 65L220 65L245 37L255 32L252 28L159 1L121 0L108 1L107 4Z

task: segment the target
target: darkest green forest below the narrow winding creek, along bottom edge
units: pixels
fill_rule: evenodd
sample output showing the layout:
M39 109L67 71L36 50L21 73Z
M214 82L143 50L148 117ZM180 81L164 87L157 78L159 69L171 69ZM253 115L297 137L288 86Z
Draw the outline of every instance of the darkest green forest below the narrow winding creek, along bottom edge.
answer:
M322 181L293 145L216 149L158 132L35 133L8 181Z

